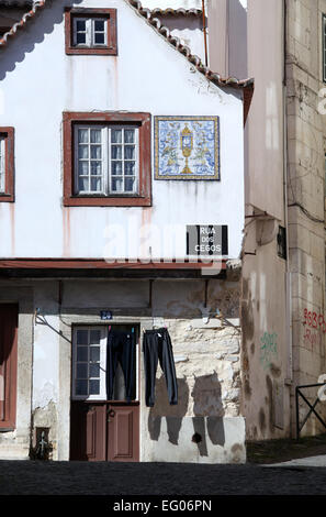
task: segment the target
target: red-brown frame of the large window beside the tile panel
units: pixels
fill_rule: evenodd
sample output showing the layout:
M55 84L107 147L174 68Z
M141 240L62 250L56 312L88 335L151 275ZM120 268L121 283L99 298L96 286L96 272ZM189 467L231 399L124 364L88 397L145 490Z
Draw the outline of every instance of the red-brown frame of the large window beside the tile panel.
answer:
M139 191L136 195L82 196L75 195L75 124L136 124L139 130ZM110 112L64 112L64 206L65 207L150 207L150 113L122 111Z

